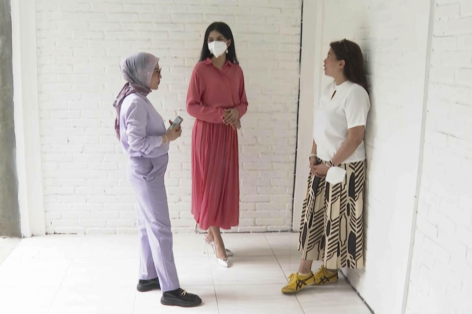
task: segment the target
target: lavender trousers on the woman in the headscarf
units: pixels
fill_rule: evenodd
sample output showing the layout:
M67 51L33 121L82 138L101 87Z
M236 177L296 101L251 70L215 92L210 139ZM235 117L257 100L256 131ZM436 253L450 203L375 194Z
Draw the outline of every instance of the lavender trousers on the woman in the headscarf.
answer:
M169 156L130 157L126 175L138 199L139 279L159 277L161 290L180 287L167 205L164 174Z

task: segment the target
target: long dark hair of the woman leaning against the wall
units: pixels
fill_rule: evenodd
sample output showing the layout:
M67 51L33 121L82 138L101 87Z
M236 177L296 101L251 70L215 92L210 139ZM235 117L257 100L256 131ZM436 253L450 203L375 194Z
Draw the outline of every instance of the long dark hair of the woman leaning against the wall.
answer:
M329 44L338 60L344 60L344 76L367 91L367 77L364 72L364 57L360 47L346 38Z

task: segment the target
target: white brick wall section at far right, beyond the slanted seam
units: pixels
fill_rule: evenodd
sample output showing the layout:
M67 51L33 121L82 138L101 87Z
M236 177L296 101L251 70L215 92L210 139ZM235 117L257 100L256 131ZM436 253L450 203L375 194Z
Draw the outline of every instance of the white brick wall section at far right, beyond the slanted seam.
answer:
M472 0L436 1L407 313L471 313Z

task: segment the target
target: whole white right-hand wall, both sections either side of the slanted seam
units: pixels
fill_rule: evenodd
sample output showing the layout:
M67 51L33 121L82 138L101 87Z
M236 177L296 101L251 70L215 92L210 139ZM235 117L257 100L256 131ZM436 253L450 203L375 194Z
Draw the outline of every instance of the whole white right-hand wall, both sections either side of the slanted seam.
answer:
M372 86L366 266L347 274L375 313L472 307L472 0L435 1L432 25L430 8L428 0L324 1L323 49L354 39Z

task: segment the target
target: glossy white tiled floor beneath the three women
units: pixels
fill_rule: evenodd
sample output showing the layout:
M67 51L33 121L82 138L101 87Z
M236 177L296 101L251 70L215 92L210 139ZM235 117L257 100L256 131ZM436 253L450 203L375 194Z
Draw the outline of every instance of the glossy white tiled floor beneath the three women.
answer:
M230 268L203 253L202 238L174 235L180 284L202 297L198 308L166 307L161 291L136 291L137 235L47 235L21 240L0 264L0 313L370 313L342 276L331 286L280 292L298 268L297 234L223 235L235 253Z

